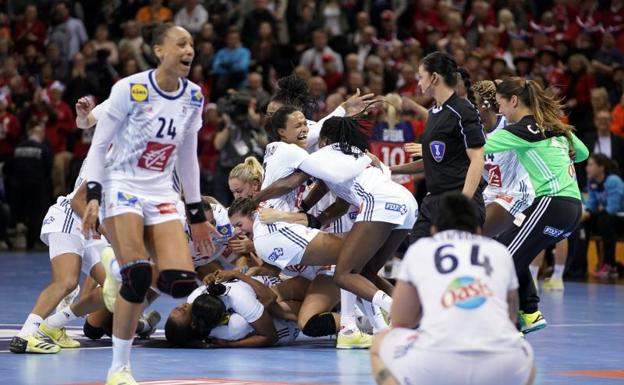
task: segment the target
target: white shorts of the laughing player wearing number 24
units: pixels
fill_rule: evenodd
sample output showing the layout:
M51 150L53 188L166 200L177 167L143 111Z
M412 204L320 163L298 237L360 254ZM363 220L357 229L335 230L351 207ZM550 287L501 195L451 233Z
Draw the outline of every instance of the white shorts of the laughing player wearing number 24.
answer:
M168 221L182 221L177 209L178 200L154 200L137 194L125 192L109 186L102 198L104 219L121 214L137 214L143 217L146 226Z

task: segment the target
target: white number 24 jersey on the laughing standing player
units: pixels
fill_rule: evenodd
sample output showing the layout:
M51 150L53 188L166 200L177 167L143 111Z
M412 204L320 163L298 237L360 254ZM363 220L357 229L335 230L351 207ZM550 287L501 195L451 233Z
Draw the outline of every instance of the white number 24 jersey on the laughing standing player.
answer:
M165 92L156 84L154 70L119 80L108 98L106 116L122 122L114 128L112 149L106 157L104 172L97 165L89 167L89 179L126 188L138 195L176 200L171 174L178 157L178 147L188 135L202 126L203 97L196 84L183 79L174 92ZM107 123L104 123L107 124Z

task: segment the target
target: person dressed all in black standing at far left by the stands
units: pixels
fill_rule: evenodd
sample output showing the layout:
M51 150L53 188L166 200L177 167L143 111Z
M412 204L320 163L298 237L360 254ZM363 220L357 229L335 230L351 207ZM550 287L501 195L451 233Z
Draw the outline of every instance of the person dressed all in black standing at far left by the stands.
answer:
M43 125L31 121L27 132L28 138L15 147L9 175L13 223L26 225L27 246L32 248L38 243L41 222L51 200L52 154L43 143L46 135Z

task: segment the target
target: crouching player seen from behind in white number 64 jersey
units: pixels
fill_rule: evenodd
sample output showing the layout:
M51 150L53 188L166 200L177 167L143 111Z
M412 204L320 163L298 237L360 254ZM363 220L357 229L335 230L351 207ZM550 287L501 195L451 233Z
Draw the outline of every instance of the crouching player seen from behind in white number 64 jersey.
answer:
M525 385L533 350L514 323L518 280L507 248L478 235L475 205L440 201L430 238L405 254L393 293L393 328L371 348L379 385Z

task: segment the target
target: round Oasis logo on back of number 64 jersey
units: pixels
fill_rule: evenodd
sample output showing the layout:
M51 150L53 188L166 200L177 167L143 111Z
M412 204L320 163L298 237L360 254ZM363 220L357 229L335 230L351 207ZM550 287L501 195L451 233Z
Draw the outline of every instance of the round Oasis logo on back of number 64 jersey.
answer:
M485 282L473 277L455 278L442 295L442 306L456 306L461 309L476 309L483 305L487 297L493 295Z

